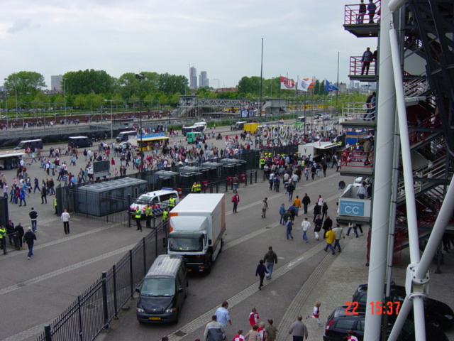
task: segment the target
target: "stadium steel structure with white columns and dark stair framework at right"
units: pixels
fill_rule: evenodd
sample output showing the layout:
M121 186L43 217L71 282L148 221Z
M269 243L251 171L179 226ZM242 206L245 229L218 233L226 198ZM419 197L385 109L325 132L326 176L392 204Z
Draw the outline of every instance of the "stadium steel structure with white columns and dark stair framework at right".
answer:
M353 6L345 6L345 16L352 17L347 8ZM370 303L383 301L394 237L405 228L406 298L388 340L397 340L413 306L416 341L423 341L428 266L453 222L454 1L382 0L378 6L377 171L364 340L380 340L382 315L372 314ZM374 24L344 26L358 37L374 36ZM430 236L422 254L421 236Z

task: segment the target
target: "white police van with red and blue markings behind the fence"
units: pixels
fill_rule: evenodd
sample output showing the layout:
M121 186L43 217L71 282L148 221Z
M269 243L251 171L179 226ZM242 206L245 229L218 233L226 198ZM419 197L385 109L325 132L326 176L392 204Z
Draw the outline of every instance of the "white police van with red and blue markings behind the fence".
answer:
M143 195L140 195L140 197L133 202L133 205L129 207L129 212L131 212L132 216L135 216L135 209L139 207L142 211L142 218L145 218L145 206L150 204L153 215L162 215L162 212L164 212L166 208L171 210L169 202L171 197L175 198L175 205L177 205L179 202L178 192L176 190L172 190L172 188L162 188L162 190L144 193Z

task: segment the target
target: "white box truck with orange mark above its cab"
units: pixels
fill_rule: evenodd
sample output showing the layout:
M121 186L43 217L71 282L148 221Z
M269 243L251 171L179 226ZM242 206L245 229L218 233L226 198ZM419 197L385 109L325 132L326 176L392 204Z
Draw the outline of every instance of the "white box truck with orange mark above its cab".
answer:
M188 271L211 272L226 234L226 197L189 194L169 214L168 254L187 259Z

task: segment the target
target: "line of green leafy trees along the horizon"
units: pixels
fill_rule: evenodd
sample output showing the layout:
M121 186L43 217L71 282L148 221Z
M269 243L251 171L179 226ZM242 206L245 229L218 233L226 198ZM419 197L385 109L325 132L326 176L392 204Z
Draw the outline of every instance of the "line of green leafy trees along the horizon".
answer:
M172 106L179 102L181 94L195 94L210 99L243 99L257 102L260 97L260 77L242 77L236 85L236 92L214 92L213 89L189 89L189 81L183 75L141 72L145 77L139 80L134 72L126 72L120 77L112 77L104 70L79 70L66 72L62 76L60 92L45 94L44 76L38 72L20 71L9 75L4 81L6 103L0 108L45 110L55 107L77 107L97 109L100 107L131 107L142 103L143 107ZM140 87L140 93L139 93ZM263 79L262 99L268 97L303 98L308 93L295 93L292 90L279 90L279 77ZM52 90L52 89L51 89ZM310 90L311 100L326 97L324 81L316 80L314 90ZM361 97L362 98L362 97Z

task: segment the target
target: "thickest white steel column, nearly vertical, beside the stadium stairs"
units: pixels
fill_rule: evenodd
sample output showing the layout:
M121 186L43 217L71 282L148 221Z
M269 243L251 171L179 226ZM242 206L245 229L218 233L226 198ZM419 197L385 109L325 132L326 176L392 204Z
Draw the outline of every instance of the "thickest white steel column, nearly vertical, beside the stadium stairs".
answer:
M375 183L372 215L372 238L370 246L369 280L367 289L367 306L364 340L380 340L382 315L372 314L370 303L383 301L384 280L387 266L387 244L389 231L389 214L392 188L392 161L394 156L394 120L396 97L394 77L392 75L391 49L389 30L391 13L389 0L382 0L382 21L380 23L380 82L378 85L377 103L377 142L375 144ZM396 151L399 153L399 151ZM394 224L394 219L391 222Z

